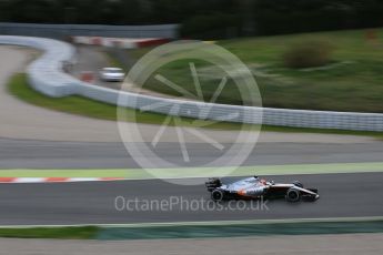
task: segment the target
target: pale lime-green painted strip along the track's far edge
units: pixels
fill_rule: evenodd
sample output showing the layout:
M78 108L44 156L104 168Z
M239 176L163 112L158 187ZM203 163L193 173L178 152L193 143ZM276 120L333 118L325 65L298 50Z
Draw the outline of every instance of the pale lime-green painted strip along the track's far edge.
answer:
M231 172L232 171L232 172ZM342 164L258 165L240 167L185 167L128 170L0 170L0 177L119 177L125 180L185 178L206 176L293 175L383 172L383 162ZM155 173L155 176L152 175ZM229 173L229 174L228 174Z

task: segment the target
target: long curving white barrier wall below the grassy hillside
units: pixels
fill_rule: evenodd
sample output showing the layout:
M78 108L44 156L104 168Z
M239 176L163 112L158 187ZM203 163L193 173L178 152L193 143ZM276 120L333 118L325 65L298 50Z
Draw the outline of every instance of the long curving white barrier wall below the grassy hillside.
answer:
M74 58L74 49L64 42L51 39L1 37L0 44L31 47L46 53L28 68L32 88L49 96L78 94L101 102L117 104L119 92L81 82L62 72L62 62ZM154 98L122 92L123 106L141 109L161 103L152 112L182 115L196 119L230 120L252 124L268 124L295 128L341 129L359 131L383 131L383 114L327 112L288 109L260 109L224 104L206 104L193 101ZM174 105L178 110L174 111Z

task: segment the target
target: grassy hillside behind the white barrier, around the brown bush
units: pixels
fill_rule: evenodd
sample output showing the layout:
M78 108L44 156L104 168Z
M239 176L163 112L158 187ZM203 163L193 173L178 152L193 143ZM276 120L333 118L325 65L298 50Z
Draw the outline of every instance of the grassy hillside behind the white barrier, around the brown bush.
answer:
M334 31L260 37L219 41L218 44L238 55L254 71L268 108L327 111L383 112L383 29L376 29L377 40L366 39L366 30ZM296 70L283 65L283 54L291 45L324 41L334 49L332 65L325 69ZM139 59L150 49L131 50ZM190 60L162 67L158 73L195 94L190 75ZM205 99L209 100L223 75L214 67L194 61ZM210 75L206 75L210 74ZM211 75L211 74L215 74ZM179 95L154 79L144 88L160 93ZM219 102L246 104L251 99L239 96L238 88L229 82Z

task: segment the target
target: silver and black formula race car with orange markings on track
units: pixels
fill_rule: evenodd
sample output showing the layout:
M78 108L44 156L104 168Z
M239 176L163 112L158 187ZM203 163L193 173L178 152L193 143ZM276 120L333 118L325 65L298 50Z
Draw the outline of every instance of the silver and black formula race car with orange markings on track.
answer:
M295 181L291 184L274 183L261 180L258 176L243 178L230 184L223 184L220 178L209 178L205 183L213 201L225 200L264 200L285 198L294 203L301 200L316 201L320 196L316 188L304 188Z

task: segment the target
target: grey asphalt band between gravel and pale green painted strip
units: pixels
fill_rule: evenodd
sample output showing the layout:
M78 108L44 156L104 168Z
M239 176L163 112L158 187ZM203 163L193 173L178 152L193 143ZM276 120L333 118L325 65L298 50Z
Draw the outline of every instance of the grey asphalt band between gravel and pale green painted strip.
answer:
M210 144L188 143L187 146L193 157L185 166L199 166L219 156ZM259 143L243 165L380 162L382 151L381 142ZM168 161L183 163L179 143L161 143L155 153ZM138 167L122 143L0 139L0 169L121 167Z

